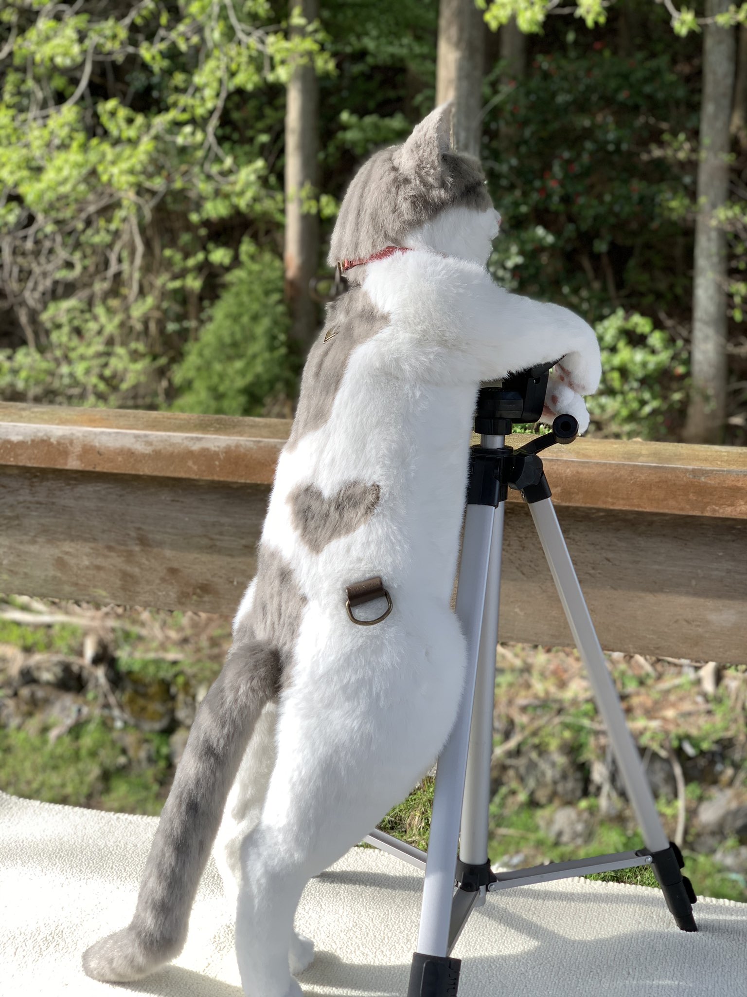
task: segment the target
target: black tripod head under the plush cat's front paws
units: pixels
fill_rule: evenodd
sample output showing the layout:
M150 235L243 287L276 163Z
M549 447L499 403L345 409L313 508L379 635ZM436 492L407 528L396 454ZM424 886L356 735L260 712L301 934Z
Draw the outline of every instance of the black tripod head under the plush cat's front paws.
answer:
M508 436L514 423L538 422L545 406L550 370L556 363L553 360L519 371L500 385L483 385L477 396L475 433ZM553 423L554 443L572 443L578 433L579 424L573 416L558 416Z

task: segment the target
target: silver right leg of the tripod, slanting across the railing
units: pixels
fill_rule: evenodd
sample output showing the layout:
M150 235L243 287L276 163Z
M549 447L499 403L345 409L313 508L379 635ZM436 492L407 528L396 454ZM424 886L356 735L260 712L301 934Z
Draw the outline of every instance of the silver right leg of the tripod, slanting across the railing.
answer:
M589 681L610 735L610 743L620 766L622 782L638 820L643 840L650 851L660 851L669 846L669 841L661 826L635 743L627 729L618 692L589 615L553 502L550 498L544 498L532 502L529 509L576 646L584 659Z

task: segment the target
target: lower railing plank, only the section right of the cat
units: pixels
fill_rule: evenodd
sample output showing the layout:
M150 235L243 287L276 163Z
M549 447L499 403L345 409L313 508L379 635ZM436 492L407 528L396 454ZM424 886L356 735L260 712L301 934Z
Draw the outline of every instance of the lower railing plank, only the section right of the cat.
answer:
M607 650L747 664L747 522L559 507ZM568 646L571 632L529 509L506 510L503 640Z

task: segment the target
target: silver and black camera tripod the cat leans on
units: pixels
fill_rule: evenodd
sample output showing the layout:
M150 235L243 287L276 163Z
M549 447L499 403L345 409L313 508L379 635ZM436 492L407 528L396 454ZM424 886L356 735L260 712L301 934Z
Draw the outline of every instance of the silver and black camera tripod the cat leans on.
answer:
M454 728L438 759L427 853L382 831L366 840L425 870L417 951L407 997L455 997L460 960L450 957L471 911L488 892L566 876L650 865L682 931L696 931L695 893L683 877L682 855L667 840L630 736L615 684L551 501L538 454L572 443L579 426L559 416L553 431L519 450L505 445L513 423L534 423L543 410L548 372L538 366L480 390L472 447L456 614L467 638L467 667ZM529 505L574 640L581 652L644 848L495 873L488 859L490 760L493 748L501 547L508 489ZM458 858L457 858L458 852ZM456 887L456 888L455 888Z

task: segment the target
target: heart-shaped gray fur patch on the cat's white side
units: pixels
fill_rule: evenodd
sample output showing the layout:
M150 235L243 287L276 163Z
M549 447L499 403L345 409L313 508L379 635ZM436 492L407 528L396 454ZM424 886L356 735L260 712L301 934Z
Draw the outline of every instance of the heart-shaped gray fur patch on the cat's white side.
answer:
M380 495L378 485L350 482L330 498L325 498L316 485L299 486L288 501L301 539L318 554L328 543L347 536L370 519Z

